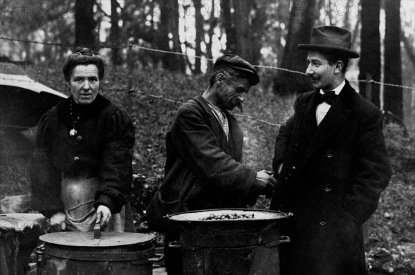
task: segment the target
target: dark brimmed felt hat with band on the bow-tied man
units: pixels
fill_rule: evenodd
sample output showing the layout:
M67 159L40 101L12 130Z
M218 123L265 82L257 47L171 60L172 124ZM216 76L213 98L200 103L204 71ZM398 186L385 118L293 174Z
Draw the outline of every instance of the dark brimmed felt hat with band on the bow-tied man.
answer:
M310 44L299 44L302 50L322 50L339 53L344 57L358 58L359 54L351 50L351 32L335 26L314 27L311 32Z

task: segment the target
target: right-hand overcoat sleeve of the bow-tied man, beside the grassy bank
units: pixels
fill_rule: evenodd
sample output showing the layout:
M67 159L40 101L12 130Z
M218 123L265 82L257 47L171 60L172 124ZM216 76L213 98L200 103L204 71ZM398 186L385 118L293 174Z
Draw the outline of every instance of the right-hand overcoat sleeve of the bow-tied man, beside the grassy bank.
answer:
M378 207L380 193L391 178L389 156L382 133L382 114L378 109L364 117L359 126L356 152L356 169L351 191L342 202L342 207L360 222L370 218Z

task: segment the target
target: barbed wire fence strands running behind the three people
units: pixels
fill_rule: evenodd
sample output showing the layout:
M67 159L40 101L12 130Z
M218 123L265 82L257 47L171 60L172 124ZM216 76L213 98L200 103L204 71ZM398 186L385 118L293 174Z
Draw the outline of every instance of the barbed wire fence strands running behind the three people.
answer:
M54 43L54 42L43 42L43 41L33 41L33 40L26 40L26 39L17 39L17 38L10 38L10 37L0 37L1 40L6 40L6 41L17 41L17 42L21 42L21 43L30 43L30 44L42 44L42 45L46 45L46 46L65 46L65 47L73 47L73 45L68 45L68 44L62 44L62 43ZM99 48L109 48L109 49L125 49L127 48L127 55L129 57L131 57L131 53L133 48L138 48L140 50L147 50L147 51L151 51L154 53L163 53L163 54L169 54L169 55L181 55L181 56L185 56L187 58L191 57L191 58L199 58L199 59L203 59L205 61L210 61L213 62L214 59L210 59L207 57L202 57L202 56L197 56L197 55L187 55L186 53L178 53L178 52L174 52L174 51L168 51L168 50L159 50L159 49L154 49L154 48L149 48L149 47L145 47L145 46L140 46L137 44L132 44L131 42L124 44L124 45L120 45L120 46L109 46L109 45L100 45ZM132 95L133 93L136 94L140 94L140 95L145 95L148 97L152 97L155 99L160 99L160 100L164 100L166 102L171 102L174 104L183 104L184 102L180 102L177 101L175 99L169 99L167 97L164 97L163 95L153 95L151 93L146 93L143 91L139 91L136 88L133 87L133 82L132 82L132 64L131 64L131 60L132 58L128 58L128 63L129 63L129 72L130 72L130 76L129 76L129 82L128 82L128 88L124 88L124 89L118 89L117 91L122 91L122 92L127 92L127 97L129 97L129 99L127 100L127 111L131 111L131 104L132 104ZM297 70L288 70L286 68L279 68L277 66L263 66L263 65L253 65L256 68L264 68L264 69L270 69L270 70L282 70L288 73L296 73L299 75L306 75L306 73L304 72L300 72ZM415 87L412 86L403 86L403 85L397 85L397 84L389 84L389 83L384 83L384 82L378 82L374 79L359 79L359 80L350 80L350 82L365 82L366 84L378 84L378 85L385 85L385 86L393 86L393 87L397 87L397 88L405 88L405 89L410 89L410 90L415 90ZM256 120L258 122L264 123L264 124L268 124L270 126L280 126L280 124L276 124L273 122L268 122L266 120L262 120L259 119L257 117L252 117L251 115L241 115L239 113L232 113L233 115L237 115L238 117L243 117L246 119L250 119L250 120Z

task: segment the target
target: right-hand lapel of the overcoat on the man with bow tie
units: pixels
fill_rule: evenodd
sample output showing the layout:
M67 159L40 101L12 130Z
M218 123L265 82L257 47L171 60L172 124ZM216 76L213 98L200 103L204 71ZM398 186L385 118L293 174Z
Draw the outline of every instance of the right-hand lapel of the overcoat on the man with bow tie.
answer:
M315 131L315 134L308 146L306 158L309 158L313 155L313 153L320 149L320 147L325 144L334 133L342 128L344 122L347 121L347 117L351 113L351 110L348 108L349 106L347 106L347 102L349 102L347 97L352 96L349 88L351 87L349 86L349 83L347 83L347 85L342 89L340 96L337 97L334 104L330 107L329 112L326 113L326 116L322 122L320 122L319 126L317 126L317 130ZM315 96L313 99L315 99ZM314 115L309 115L309 117L313 117L314 123L316 123L315 108Z

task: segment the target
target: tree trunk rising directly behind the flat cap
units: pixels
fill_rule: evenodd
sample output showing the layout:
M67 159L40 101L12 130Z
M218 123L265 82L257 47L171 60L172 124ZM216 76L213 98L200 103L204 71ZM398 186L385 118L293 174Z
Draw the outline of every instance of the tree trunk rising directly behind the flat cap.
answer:
M250 11L253 1L234 1L234 19L235 19L235 53L252 63L252 29L250 26Z

